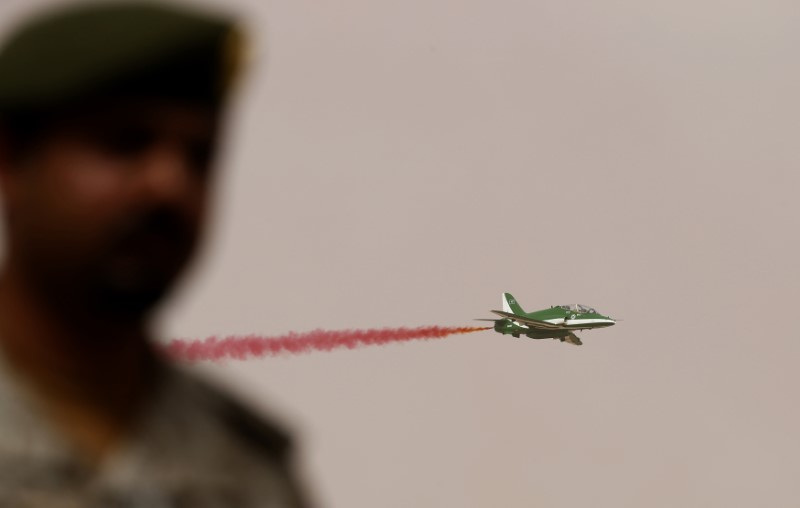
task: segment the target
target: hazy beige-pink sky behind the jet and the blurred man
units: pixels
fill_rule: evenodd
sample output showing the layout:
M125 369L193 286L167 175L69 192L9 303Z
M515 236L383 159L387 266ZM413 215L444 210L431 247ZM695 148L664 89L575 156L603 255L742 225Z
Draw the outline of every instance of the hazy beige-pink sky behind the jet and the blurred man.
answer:
M253 68L165 337L624 319L200 367L323 506L797 504L800 5L224 3Z

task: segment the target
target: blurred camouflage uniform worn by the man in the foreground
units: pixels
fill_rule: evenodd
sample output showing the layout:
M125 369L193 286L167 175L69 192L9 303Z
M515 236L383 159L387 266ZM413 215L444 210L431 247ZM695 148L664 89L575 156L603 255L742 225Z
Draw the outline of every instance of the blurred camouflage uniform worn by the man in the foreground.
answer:
M286 435L173 367L161 367L135 432L95 467L9 369L0 366L0 506L304 506Z

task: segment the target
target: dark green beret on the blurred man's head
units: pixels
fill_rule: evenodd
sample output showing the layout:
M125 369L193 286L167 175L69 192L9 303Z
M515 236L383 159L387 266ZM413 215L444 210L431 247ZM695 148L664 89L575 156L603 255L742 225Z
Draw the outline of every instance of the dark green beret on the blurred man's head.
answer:
M220 101L236 71L232 20L153 2L51 10L0 48L0 112L43 110L103 93Z

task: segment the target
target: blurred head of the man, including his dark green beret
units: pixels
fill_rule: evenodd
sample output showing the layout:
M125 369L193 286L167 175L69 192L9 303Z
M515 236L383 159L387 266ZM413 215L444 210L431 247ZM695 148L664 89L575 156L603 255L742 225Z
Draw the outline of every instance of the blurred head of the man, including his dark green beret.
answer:
M0 52L8 264L41 296L139 318L171 287L202 231L231 33L98 3L32 22Z

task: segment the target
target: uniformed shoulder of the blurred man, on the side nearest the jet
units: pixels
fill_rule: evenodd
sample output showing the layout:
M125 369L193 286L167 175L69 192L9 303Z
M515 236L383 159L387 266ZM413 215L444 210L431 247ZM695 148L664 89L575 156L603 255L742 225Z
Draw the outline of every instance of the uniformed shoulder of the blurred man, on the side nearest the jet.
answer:
M282 426L190 372L164 365L158 379L137 432L106 464L107 485L242 499L231 506L306 505Z

